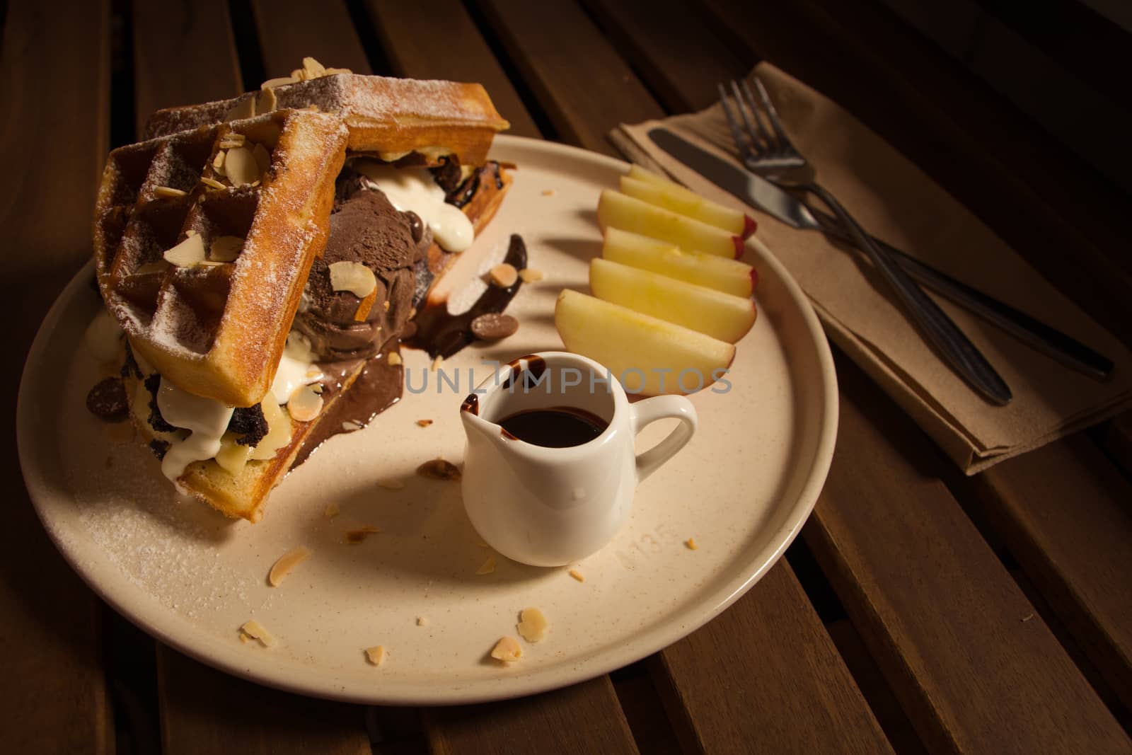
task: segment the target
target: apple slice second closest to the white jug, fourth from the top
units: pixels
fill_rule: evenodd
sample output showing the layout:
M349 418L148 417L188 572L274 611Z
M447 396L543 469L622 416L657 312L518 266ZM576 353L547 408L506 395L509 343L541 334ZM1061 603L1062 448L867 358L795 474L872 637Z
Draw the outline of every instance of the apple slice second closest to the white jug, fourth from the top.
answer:
M590 260L590 289L598 299L735 343L755 324L755 301L660 273Z

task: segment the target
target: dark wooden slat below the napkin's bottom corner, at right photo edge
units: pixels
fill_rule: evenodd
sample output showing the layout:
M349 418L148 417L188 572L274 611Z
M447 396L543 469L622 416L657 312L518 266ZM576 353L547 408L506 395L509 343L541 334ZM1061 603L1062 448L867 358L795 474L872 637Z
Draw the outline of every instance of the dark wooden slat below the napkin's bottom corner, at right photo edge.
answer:
M992 523L1132 707L1132 484L1083 435L974 480Z

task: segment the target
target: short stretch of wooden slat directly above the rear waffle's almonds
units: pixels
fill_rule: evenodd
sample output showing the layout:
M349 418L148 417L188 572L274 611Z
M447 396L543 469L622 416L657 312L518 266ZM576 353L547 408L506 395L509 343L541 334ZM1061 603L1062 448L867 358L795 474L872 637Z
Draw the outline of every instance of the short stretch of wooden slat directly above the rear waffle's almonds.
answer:
M307 55L324 66L374 72L344 0L252 0L251 7L268 78L301 68Z

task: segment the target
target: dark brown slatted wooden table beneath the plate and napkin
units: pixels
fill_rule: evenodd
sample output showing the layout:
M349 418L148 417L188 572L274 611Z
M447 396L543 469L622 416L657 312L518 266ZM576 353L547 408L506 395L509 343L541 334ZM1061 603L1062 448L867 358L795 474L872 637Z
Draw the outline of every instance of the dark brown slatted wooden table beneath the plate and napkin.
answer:
M307 54L481 81L513 134L607 154L618 122L704 106L715 81L770 59L856 112L1130 340L1125 205L1062 145L878 2L734 6L7 3L8 427L23 355L89 254L110 146L134 140L156 108L255 88ZM155 643L48 541L9 432L0 752L1132 752L1132 486L1114 463L1126 464L1129 421L968 479L857 367L837 363L837 454L786 559L640 663L478 706L308 700Z

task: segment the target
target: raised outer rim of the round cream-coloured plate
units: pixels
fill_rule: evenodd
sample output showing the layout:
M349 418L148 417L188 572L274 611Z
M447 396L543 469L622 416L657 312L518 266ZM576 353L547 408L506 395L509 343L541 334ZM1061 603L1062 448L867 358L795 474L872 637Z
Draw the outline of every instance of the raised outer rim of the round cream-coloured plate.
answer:
M504 148L504 151L507 148L534 149L537 152L547 153L551 156L558 156L565 161L588 161L597 163L598 166L621 173L624 173L629 166L629 163L616 157L610 157L608 155L602 155L565 144L546 141L542 139L500 135L496 137L496 144L492 145L492 152L496 151L497 146ZM43 475L40 473L40 470L35 467L33 451L31 448L31 434L33 432L32 414L34 413L31 403L34 392L27 387L32 364L37 364L43 360L44 352L49 349L52 333L54 332L59 320L62 318L68 302L70 302L70 300L75 297L76 290L85 285L85 280L92 274L94 265L93 259L88 260L86 265L84 265L83 268L75 274L75 276L55 298L51 308L48 310L48 314L44 316L43 323L36 332L35 338L32 342L32 346L28 349L27 358L20 372L20 386L16 405L16 445L20 471L24 478L25 488L28 492L28 498L35 508L36 515L40 518L43 529L48 532L49 538L55 546L55 549L63 557L63 560L66 560L71 569L83 580L83 582L109 606L143 632L149 634L156 640L160 640L178 652L225 674L230 674L256 684L261 684L294 694L346 703L428 706L473 704L508 700L558 689L595 678L603 674L608 674L609 671L634 663L642 658L668 647L672 643L704 626L734 604L756 582L758 582L758 580L766 574L766 572L778 564L787 548L794 542L795 538L801 531L801 526L813 512L813 508L817 503L817 497L825 483L830 464L833 458L833 448L837 440L839 419L838 385L833 355L830 351L829 341L825 337L824 331L822 329L821 323L809 302L809 299L782 263L773 255L773 251L765 248L765 244L763 244L763 247L764 250L758 252L760 258L762 261L765 261L765 264L771 266L775 276L786 289L787 294L797 306L806 333L809 336L808 343L814 346L817 362L821 367L821 380L818 381L821 385L821 398L823 404L821 406L821 411L818 412L821 429L814 447L813 465L811 466L805 482L798 491L796 500L790 506L787 523L783 527L784 533L775 535L775 539L779 539L778 547L770 552L769 558L766 558L753 570L747 568L740 569L738 574L727 580L722 586L695 599L683 610L676 610L672 614L664 616L653 626L649 627L641 634L635 635L632 641L621 642L594 653L593 655L578 660L573 667L571 667L568 672L563 672L560 667L554 666L532 671L518 671L507 677L473 679L461 687L432 690L427 689L429 685L428 681L421 680L413 683L418 688L417 692L410 690L408 688L408 684L398 684L397 687L393 689L375 686L371 689L362 690L354 689L349 684L344 686L338 685L336 687L331 686L326 678L318 677L309 678L307 683L302 683L297 681L293 676L288 674L290 670L288 667L273 666L267 657L264 657L264 659L254 658L246 663L237 663L230 662L226 658L224 658L224 655L228 655L228 653L224 652L225 649L213 649L213 652L209 652L211 649L197 647L191 642L191 635L185 640L177 636L174 633L175 623L180 619L175 616L172 617L172 620L170 621L154 621L153 618L140 607L135 608L125 604L119 599L119 595L112 591L112 585L100 584L95 578L96 575L89 574L86 569L80 567L77 560L77 555L68 550L62 541L61 533L57 532L55 527L49 523L49 514L45 511L48 504L44 500L41 500L42 494L33 489L34 487L42 484L40 480ZM36 486L33 486L31 480L35 480ZM301 679L303 677L299 678ZM389 692L394 694L383 694Z

